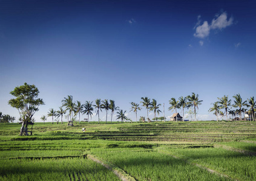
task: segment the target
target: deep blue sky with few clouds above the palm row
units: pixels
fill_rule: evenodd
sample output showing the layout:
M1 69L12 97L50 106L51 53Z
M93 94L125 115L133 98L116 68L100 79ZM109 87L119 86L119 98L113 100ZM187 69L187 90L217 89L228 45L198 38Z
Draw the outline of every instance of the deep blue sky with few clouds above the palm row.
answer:
M38 122L67 95L112 99L127 112L132 101L154 98L169 116L169 100L192 92L203 100L199 120L215 119L208 110L217 97L256 96L255 8L255 1L0 1L0 111L18 119L9 92L27 82L45 101Z

